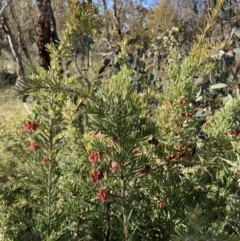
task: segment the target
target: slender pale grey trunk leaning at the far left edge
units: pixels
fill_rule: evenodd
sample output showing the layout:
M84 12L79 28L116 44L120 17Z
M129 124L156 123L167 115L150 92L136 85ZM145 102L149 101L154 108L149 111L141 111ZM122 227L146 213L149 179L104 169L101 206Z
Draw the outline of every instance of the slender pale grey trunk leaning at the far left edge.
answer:
M13 56L16 60L17 63L17 75L20 77L23 81L26 81L25 79L25 73L24 73L24 67L23 67L23 62L22 62L22 57L21 54L19 53L18 50L18 43L15 40L15 37L13 35L13 32L11 28L9 27L9 24L7 22L7 18L4 14L4 11L7 6L11 4L12 0L10 0L7 4L5 4L2 9L0 10L0 21L1 21L1 27L4 33L7 35L8 42L11 48L11 51L13 53Z

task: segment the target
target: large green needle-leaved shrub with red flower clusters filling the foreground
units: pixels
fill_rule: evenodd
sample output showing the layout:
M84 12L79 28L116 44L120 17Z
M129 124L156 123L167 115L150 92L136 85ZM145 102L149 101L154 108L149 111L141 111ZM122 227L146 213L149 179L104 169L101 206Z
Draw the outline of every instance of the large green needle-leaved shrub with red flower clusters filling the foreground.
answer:
M79 13L70 4L59 49L48 46L51 68L24 87L38 104L1 124L3 240L240 239L239 96L220 103L226 84L204 85L211 56L231 45L207 37L221 3L182 62L171 52L161 93L136 91L126 41L101 85L63 75L73 36L97 26L91 4Z

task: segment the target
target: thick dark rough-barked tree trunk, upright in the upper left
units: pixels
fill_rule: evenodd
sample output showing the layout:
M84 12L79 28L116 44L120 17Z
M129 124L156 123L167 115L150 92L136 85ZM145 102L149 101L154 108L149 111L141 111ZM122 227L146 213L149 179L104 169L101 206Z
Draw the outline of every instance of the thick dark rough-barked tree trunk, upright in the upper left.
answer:
M54 43L59 44L57 35L56 21L53 15L51 0L37 0L38 21L35 28L37 35L37 46L39 51L39 64L44 69L50 67L50 53L46 49L46 45Z

